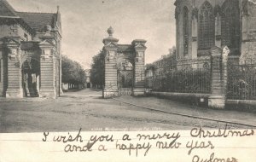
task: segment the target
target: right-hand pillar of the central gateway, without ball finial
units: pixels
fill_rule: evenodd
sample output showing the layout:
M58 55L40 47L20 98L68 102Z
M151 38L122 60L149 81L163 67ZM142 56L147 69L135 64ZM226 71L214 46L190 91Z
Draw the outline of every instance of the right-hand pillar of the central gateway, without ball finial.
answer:
M144 95L145 93L145 40L134 40L132 45L135 49L134 83L132 95Z

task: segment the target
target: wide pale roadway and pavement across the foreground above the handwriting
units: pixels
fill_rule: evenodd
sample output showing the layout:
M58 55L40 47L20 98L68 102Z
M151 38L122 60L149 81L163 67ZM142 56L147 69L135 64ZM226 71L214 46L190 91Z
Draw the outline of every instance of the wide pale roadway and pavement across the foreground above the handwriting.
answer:
M218 129L224 124L150 111L120 101L166 112L186 113L212 119L256 124L255 113L218 111L154 97L122 96L102 99L102 92L67 92L57 100L28 98L0 101L0 132L42 132L72 130L188 130L195 126ZM232 129L247 126L229 125ZM254 128L255 129L255 128Z

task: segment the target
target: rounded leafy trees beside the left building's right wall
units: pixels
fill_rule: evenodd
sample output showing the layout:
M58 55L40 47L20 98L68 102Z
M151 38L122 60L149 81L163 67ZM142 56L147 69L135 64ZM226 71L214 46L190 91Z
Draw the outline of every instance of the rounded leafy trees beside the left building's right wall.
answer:
M62 56L61 61L62 82L66 84L84 84L86 74L77 61L72 61L66 55Z

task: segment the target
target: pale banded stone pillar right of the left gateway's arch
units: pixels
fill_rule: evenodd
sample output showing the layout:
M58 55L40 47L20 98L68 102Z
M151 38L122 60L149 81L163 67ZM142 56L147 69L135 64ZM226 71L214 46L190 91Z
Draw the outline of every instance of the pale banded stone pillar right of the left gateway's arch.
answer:
M55 55L54 45L48 41L39 43L40 57L40 91L39 97L56 98L55 90Z

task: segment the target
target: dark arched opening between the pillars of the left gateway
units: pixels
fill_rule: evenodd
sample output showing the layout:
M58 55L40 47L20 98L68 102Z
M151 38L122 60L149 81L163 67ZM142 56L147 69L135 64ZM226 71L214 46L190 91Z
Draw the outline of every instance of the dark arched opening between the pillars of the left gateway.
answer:
M40 61L27 57L22 63L22 88L25 97L38 97L40 82Z

